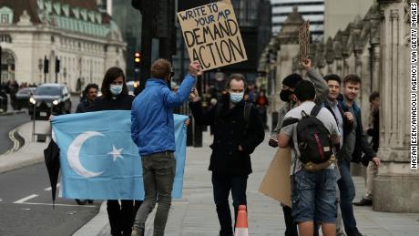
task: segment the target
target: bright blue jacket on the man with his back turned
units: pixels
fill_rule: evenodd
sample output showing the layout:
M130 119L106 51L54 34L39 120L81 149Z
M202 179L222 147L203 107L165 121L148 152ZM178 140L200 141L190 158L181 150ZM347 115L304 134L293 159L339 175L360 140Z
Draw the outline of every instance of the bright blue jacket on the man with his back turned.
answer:
M188 75L178 92L159 78L149 78L144 90L134 99L131 109L131 137L139 155L175 151L173 108L180 107L189 97L195 77Z

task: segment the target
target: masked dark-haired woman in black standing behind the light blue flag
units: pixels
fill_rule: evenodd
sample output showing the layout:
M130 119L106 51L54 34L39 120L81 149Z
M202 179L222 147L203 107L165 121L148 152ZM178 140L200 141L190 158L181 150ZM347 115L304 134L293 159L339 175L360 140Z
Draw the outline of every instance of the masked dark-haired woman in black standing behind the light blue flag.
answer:
M124 72L119 67L107 69L102 82L102 96L97 97L91 111L131 110L133 96L128 95ZM107 216L111 235L131 235L134 217L142 201L107 200Z

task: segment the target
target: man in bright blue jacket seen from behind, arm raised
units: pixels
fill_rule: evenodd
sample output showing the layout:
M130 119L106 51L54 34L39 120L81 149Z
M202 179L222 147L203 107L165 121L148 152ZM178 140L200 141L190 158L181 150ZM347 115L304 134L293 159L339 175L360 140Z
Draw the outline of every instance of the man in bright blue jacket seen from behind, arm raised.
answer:
M170 63L157 59L151 66L151 78L144 91L134 99L131 136L142 159L146 196L137 212L132 235L144 235L148 213L154 209L157 198L154 235L164 235L176 172L173 108L180 107L188 99L200 68L199 63L190 63L189 75L174 93L168 87L172 77Z

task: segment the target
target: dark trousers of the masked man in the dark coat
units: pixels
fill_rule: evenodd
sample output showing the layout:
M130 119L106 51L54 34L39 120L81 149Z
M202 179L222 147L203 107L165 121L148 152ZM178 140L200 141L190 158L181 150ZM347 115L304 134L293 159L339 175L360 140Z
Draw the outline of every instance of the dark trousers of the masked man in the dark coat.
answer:
M212 189L214 202L217 208L217 215L220 221L220 236L233 235L231 226L231 214L229 206L229 195L233 199L235 221L240 205L247 205L246 189L248 175L230 175L212 172ZM236 224L234 221L234 224Z

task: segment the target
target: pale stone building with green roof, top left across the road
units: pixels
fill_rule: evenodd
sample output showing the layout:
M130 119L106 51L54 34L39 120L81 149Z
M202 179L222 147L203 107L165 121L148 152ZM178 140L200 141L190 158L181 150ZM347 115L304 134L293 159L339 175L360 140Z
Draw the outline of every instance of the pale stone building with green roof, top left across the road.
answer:
M3 81L40 84L57 78L76 91L100 84L108 67L126 67L126 43L96 0L0 0L0 19Z

